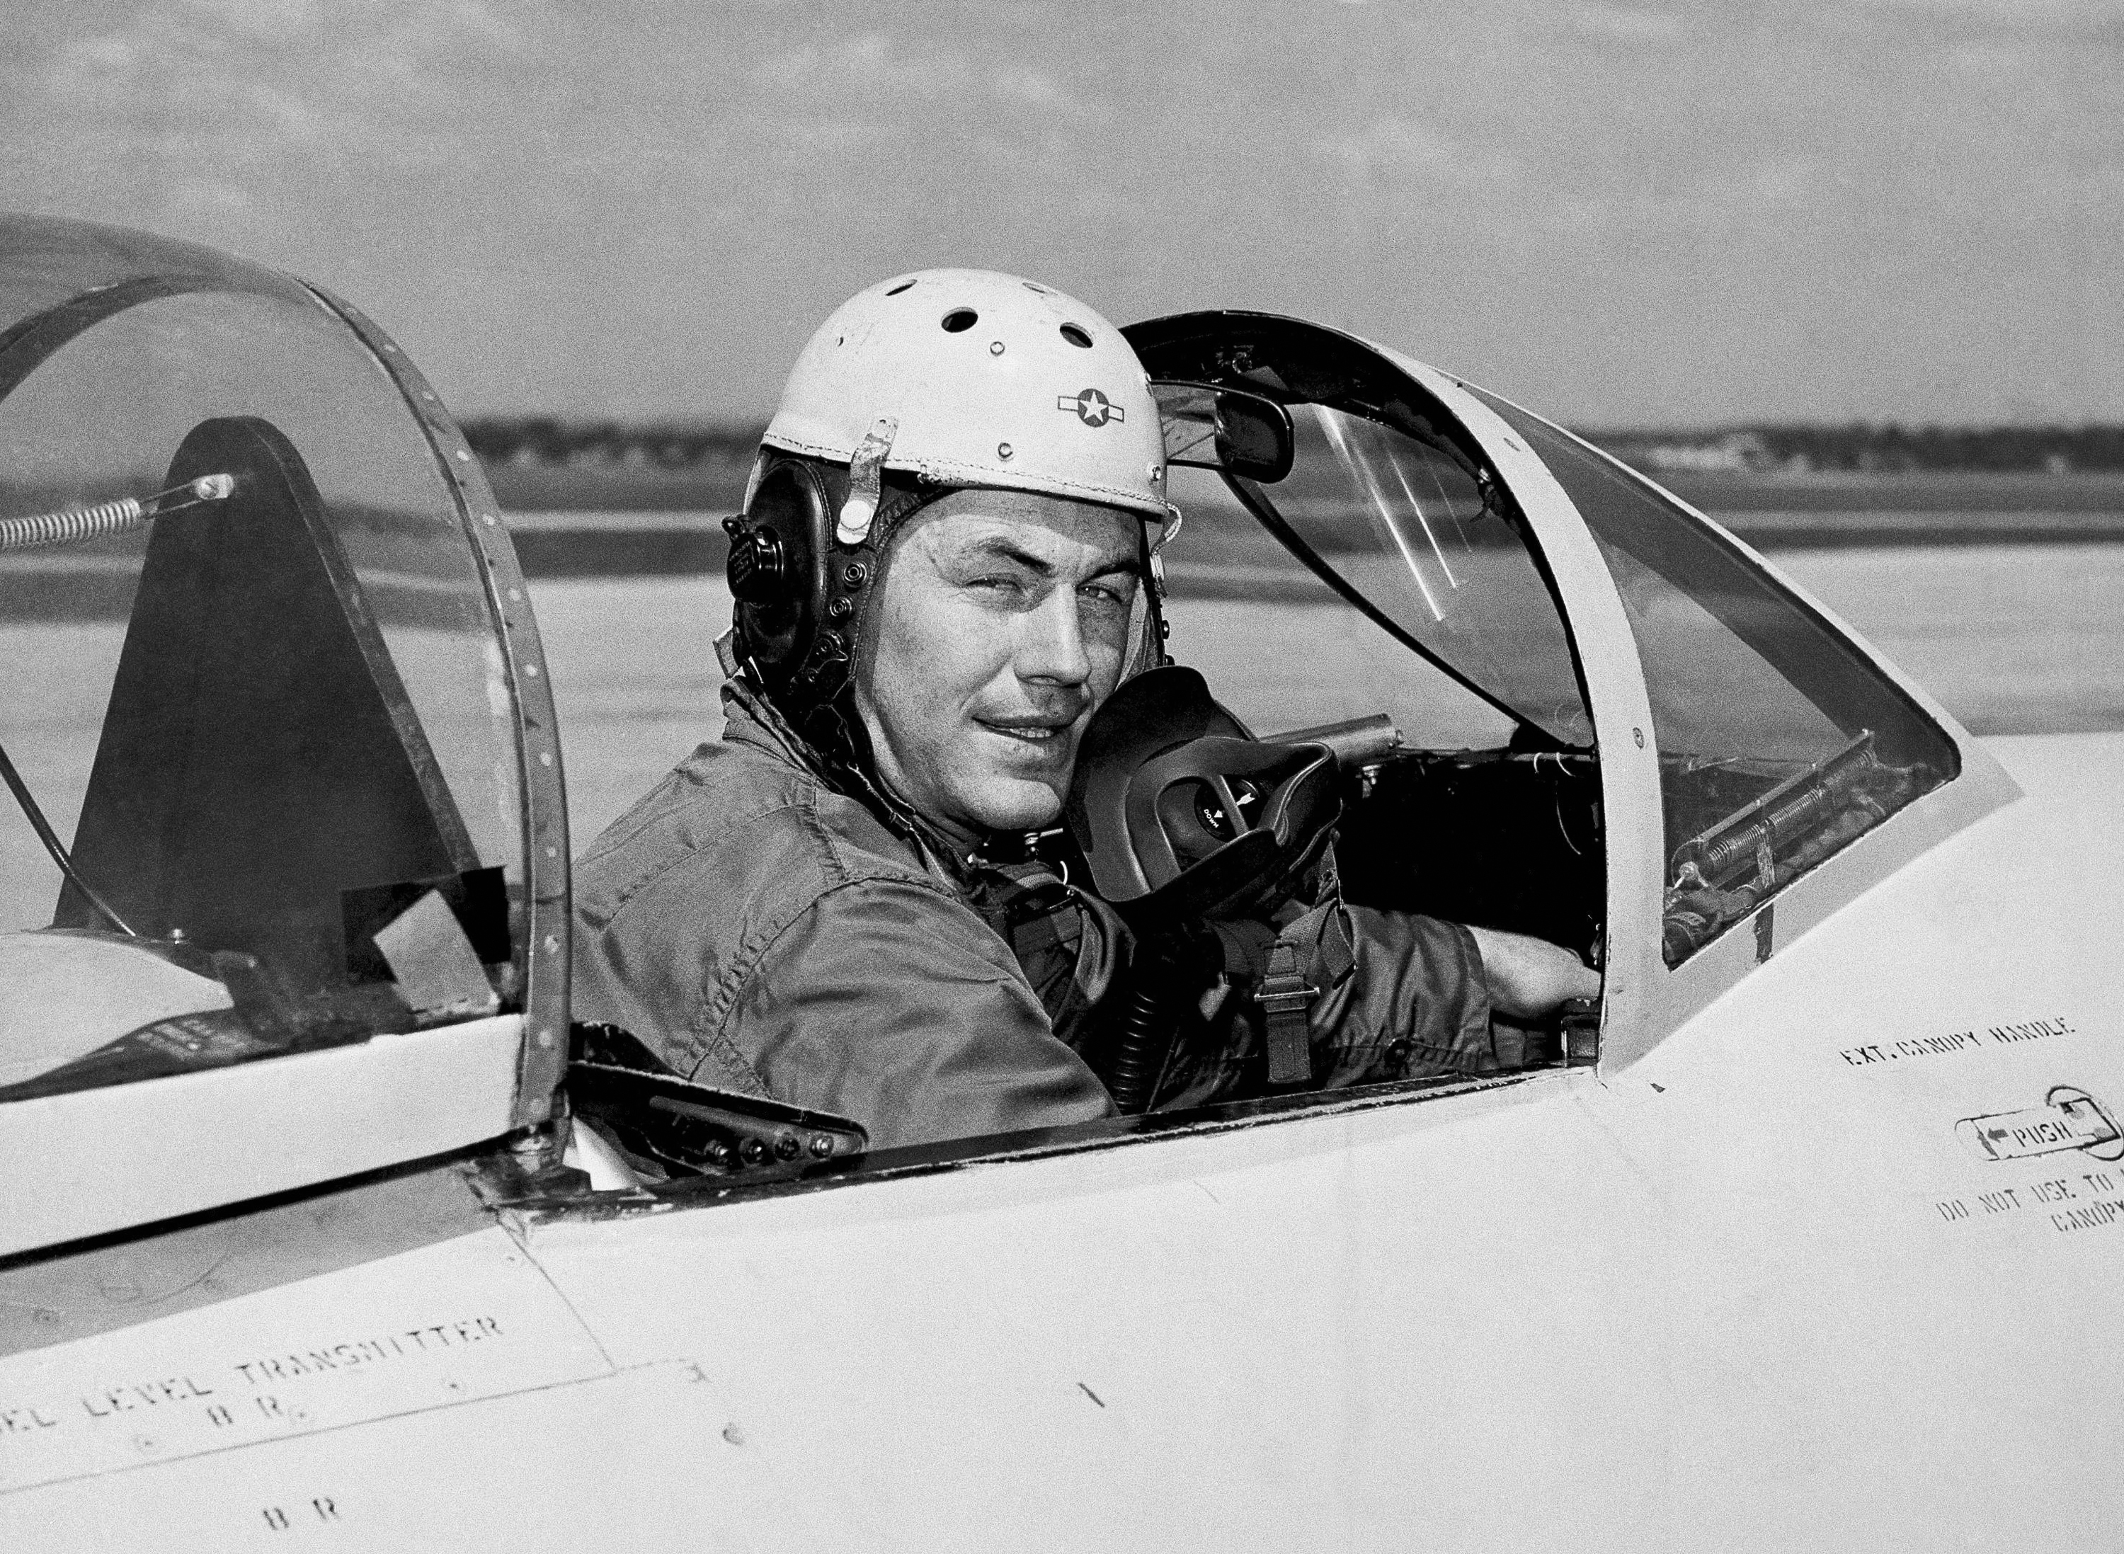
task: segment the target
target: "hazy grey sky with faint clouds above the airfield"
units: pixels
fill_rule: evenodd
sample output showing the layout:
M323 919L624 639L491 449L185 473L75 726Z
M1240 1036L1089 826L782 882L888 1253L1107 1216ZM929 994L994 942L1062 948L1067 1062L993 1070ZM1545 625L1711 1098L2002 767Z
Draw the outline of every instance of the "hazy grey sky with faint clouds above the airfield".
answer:
M760 420L977 265L1582 427L2124 420L2124 0L8 0L0 208L331 287L459 414Z

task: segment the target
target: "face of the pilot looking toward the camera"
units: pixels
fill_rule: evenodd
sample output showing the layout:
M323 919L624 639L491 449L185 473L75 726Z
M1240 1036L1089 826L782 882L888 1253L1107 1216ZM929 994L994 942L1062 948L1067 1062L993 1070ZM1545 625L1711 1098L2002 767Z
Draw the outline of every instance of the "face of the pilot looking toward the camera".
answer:
M1128 656L1141 533L1115 507L960 490L892 537L856 664L890 792L969 845L1054 824Z

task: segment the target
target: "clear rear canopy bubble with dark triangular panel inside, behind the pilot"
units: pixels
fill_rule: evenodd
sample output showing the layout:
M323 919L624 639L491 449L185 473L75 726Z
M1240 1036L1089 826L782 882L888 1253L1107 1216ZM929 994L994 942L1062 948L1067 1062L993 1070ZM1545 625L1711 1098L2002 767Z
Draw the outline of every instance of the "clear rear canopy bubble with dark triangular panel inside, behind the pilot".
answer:
M287 276L0 221L0 1100L523 1004L516 654L416 393Z

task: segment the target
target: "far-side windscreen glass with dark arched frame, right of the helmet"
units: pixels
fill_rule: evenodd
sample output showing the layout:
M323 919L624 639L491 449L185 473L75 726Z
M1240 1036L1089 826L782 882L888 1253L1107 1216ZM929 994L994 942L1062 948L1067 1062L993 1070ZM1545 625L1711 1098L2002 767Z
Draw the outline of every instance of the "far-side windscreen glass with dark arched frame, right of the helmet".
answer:
M1192 558L1206 548L1232 582L1296 560L1308 588L1285 592L1334 607L1315 607L1317 620L1279 641L1304 694L1325 694L1306 637L1357 631L1395 664L1400 696L1423 684L1406 675L1410 654L1455 688L1383 703L1419 743L1593 745L1544 560L1506 482L1434 395L1370 346L1296 318L1181 314L1132 325L1128 338L1168 405L1177 384L1202 384L1274 401L1289 418L1281 469L1247 473L1245 461L1226 461L1219 478L1175 471L1185 526L1168 565L1194 565L1187 582L1200 584ZM1185 622L1172 652L1189 654Z

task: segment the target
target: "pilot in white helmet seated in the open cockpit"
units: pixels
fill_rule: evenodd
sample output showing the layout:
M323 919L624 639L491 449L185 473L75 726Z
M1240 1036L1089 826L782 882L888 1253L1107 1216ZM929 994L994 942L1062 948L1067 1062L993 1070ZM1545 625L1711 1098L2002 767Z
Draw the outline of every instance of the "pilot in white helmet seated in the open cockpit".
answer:
M1158 667L1164 478L1145 369L1083 304L964 270L843 304L726 524L724 737L578 862L576 1019L892 1146L1495 1072L1512 1021L1595 996L1557 945L1340 900L1306 762L1249 760ZM1094 726L1124 681L1134 735ZM1177 754L1136 737L1187 720ZM1081 747L1240 794L1134 815L1213 843L1162 919L1070 868L1134 824L1085 822Z

